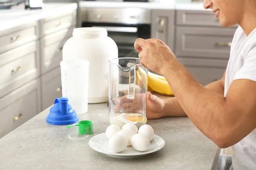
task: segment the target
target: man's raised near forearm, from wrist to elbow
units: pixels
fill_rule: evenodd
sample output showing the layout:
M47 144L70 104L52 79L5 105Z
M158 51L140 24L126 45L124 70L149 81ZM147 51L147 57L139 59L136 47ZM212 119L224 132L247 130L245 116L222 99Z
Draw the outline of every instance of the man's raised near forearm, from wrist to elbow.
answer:
M219 139L227 136L221 130L223 132L226 126L224 121L228 119L228 114L224 114L226 99L219 93L221 91L202 88L178 62L167 67L163 76L169 82L180 106L198 129L214 142L222 142Z

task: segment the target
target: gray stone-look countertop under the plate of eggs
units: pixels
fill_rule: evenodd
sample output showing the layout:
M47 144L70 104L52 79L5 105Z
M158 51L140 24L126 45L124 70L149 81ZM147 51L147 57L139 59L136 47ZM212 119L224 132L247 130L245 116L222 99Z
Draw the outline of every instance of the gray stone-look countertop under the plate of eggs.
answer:
M0 170L210 170L220 149L187 117L148 120L165 140L163 149L136 159L117 159L90 148L108 127L106 103L90 104L79 120L94 122L92 135L46 123L49 108L0 139ZM213 164L213 167L212 167Z

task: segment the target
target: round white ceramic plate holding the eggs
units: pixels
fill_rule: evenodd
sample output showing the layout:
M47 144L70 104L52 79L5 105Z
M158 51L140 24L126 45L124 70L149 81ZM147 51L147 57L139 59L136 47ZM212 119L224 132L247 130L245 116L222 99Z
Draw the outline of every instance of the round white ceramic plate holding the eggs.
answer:
M124 151L115 153L108 147L108 138L106 133L93 136L89 141L90 147L94 150L116 158L138 158L145 156L149 153L162 149L164 144L165 142L161 137L154 135L154 139L150 142L150 147L144 152L137 151L133 147L128 146Z

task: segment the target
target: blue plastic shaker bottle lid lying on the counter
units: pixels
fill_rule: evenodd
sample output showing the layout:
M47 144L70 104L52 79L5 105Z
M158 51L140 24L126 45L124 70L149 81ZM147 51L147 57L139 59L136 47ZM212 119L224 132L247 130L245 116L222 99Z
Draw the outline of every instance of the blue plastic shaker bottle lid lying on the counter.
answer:
M51 125L71 125L78 122L76 111L68 104L68 98L61 97L55 99L46 122Z

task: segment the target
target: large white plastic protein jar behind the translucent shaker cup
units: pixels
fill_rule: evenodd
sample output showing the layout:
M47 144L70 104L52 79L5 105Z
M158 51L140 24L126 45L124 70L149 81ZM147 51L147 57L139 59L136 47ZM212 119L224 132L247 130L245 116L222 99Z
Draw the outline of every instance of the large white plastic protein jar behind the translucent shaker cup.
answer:
M116 43L105 28L75 28L73 37L64 44L63 61L89 61L88 103L108 100L108 60L118 57Z

